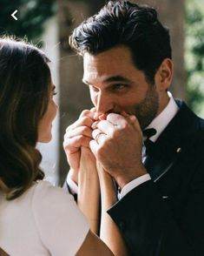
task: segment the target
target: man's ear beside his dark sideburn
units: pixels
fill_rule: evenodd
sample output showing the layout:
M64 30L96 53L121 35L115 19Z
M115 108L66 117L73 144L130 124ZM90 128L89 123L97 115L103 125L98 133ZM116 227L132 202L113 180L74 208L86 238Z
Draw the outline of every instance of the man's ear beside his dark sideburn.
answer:
M170 58L165 58L155 74L155 84L159 91L167 91L172 82L174 64Z

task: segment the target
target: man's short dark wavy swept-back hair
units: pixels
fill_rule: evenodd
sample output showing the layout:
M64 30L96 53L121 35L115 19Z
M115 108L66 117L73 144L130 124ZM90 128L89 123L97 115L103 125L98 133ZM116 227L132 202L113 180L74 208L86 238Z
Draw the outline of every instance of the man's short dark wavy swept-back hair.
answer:
M137 69L150 83L165 58L171 58L169 32L154 8L128 1L109 1L95 16L80 24L69 37L70 46L83 56L115 46L127 46Z

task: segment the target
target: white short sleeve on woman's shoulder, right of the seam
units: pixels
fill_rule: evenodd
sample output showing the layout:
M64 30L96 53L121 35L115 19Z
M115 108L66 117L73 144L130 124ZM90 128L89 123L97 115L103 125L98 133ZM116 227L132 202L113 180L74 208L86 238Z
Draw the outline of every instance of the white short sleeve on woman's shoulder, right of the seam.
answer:
M50 252L52 247L54 251L59 247L59 252L67 248L69 255L76 255L89 232L89 223L73 196L48 181L37 182L34 190L32 212L43 244Z

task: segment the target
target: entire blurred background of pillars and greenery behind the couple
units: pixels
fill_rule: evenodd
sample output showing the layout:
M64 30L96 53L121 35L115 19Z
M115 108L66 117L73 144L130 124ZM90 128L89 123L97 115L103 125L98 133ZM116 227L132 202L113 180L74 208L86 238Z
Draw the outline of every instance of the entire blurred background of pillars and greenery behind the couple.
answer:
M174 81L170 91L184 98L204 117L204 4L203 0L138 0L150 4L170 29L174 60ZM37 147L43 153L46 179L63 184L69 170L63 152L63 134L68 125L89 109L87 86L82 84L82 58L69 49L68 37L83 19L93 15L104 0L16 0L0 1L0 32L27 37L43 47L51 59L59 114L53 127L53 140ZM18 10L15 21L10 14Z

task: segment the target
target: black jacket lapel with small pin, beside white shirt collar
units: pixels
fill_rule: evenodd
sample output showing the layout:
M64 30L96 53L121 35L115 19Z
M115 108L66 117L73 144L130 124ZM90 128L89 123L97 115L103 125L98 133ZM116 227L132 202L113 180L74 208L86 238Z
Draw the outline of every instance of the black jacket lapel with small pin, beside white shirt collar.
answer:
M176 103L180 110L156 140L154 150L149 152L144 162L155 182L172 169L181 153L188 148L192 135L198 131L198 118L186 104L179 100Z

